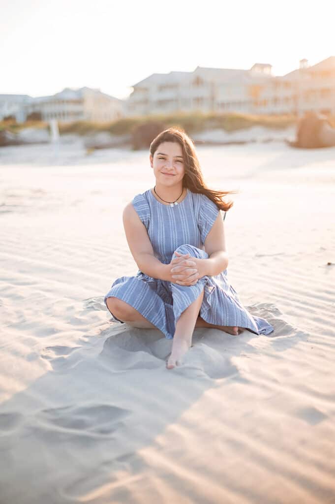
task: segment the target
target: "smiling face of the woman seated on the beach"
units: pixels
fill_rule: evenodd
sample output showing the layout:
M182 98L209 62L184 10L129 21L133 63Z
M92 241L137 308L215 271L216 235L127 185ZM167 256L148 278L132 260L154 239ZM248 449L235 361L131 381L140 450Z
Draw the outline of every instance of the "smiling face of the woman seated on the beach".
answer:
M160 144L154 157L150 154L150 164L160 185L178 184L185 174L182 148L177 142Z

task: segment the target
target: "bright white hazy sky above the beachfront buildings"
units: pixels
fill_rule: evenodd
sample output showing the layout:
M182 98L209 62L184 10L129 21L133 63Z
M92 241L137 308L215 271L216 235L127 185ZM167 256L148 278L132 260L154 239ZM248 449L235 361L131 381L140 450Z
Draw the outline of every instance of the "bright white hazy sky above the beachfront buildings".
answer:
M0 94L88 86L118 98L197 66L273 75L335 55L330 0L0 0Z

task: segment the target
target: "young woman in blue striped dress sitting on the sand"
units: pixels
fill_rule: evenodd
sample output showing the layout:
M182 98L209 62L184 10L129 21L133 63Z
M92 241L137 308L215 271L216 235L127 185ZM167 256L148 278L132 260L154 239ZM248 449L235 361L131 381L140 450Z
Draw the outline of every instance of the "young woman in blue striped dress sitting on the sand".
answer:
M155 186L123 211L130 252L139 271L115 280L104 301L114 320L160 329L172 339L167 368L182 363L195 327L237 336L243 329L269 334L273 327L252 317L227 277L228 254L220 210L232 191L207 187L194 145L168 128L150 145Z

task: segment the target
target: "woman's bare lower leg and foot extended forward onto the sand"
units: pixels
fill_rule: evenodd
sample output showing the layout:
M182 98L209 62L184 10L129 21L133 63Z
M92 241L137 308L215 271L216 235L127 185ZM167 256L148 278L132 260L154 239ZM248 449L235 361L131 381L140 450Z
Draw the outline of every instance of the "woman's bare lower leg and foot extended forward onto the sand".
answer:
M175 327L172 341L172 351L167 360L166 367L172 369L181 362L183 355L192 344L192 334L201 303L204 298L204 290L187 308L181 313Z

